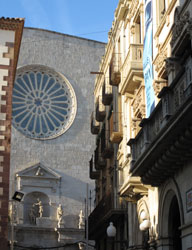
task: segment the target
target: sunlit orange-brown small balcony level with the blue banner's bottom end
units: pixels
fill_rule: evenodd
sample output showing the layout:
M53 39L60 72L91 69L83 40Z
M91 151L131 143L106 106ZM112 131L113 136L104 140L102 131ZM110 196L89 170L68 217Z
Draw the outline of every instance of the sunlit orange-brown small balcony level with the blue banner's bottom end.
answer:
M110 141L112 143L120 143L123 138L122 131L122 114L112 112L110 117Z

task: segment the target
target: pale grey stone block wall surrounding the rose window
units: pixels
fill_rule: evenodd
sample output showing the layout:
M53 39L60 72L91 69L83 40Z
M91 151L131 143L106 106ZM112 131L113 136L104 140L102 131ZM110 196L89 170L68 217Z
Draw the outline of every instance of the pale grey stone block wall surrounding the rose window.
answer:
M30 139L12 127L11 194L18 188L26 195L46 193L53 221L58 205L62 205L65 228L78 227L79 212L84 210L86 184L89 183L90 189L94 188L88 166L94 146L94 137L90 133L94 75L90 72L98 70L104 47L105 44L100 42L45 30L26 28L23 33L18 66L39 64L63 74L75 91L77 113L71 127L51 140ZM38 163L60 177L54 190L49 184L39 185L37 179L34 179L34 185L19 186L20 177L15 178L15 174ZM17 204L20 223L23 223L22 205Z

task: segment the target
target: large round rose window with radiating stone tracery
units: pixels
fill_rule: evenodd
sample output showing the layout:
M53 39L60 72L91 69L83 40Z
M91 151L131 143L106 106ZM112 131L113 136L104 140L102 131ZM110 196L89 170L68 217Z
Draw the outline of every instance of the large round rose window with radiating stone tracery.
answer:
M68 80L40 65L17 70L12 103L14 127L34 139L63 134L76 114L76 97Z

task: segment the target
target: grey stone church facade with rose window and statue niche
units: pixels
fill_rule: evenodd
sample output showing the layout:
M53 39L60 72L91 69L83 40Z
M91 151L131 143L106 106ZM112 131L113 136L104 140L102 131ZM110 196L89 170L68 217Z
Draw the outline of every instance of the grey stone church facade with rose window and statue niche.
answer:
M84 239L93 109L104 43L25 28L12 96L10 206L16 245L78 249ZM14 225L14 226L13 226Z

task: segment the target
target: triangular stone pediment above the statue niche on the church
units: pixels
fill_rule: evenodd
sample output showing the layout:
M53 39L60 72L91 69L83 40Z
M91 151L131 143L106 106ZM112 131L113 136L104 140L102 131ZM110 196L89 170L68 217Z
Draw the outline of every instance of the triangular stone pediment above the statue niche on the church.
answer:
M36 163L16 173L16 177L60 179L61 176L52 169L45 167L42 163Z

